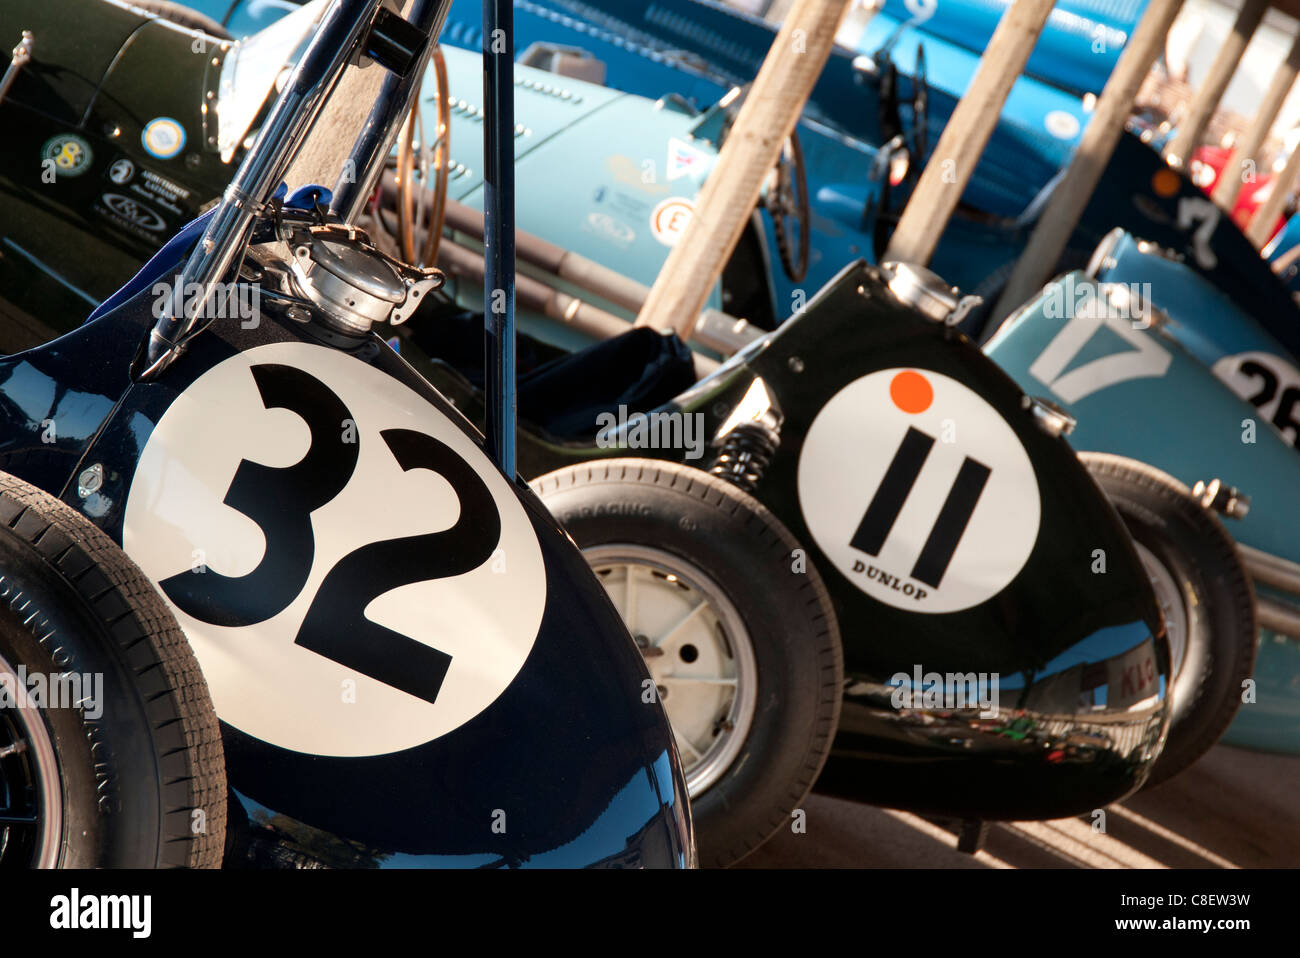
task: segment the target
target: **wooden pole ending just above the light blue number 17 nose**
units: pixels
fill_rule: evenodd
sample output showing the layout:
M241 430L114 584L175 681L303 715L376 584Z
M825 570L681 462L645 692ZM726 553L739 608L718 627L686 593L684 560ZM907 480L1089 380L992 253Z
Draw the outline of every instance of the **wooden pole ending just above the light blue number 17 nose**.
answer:
M1138 88L1164 48L1165 35L1182 5L1183 0L1150 0L1147 6L1147 13L1128 38L1114 73L1097 99L1097 107L1083 131L1070 168L1052 191L1052 199L1039 217L1028 246L1006 281L1002 298L993 311L996 318L1019 307L1050 278L1092 191L1097 188L1101 173L1115 152Z

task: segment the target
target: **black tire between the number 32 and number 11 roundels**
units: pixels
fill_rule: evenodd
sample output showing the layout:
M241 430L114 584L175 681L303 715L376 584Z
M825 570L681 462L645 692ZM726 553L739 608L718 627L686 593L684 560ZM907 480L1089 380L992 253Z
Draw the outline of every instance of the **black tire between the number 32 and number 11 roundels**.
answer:
M757 664L753 723L690 802L701 864L738 862L790 827L838 725L844 662L820 576L811 564L794 571L798 542L754 497L699 469L611 459L542 476L533 489L584 551L632 543L668 564L685 560L738 614Z

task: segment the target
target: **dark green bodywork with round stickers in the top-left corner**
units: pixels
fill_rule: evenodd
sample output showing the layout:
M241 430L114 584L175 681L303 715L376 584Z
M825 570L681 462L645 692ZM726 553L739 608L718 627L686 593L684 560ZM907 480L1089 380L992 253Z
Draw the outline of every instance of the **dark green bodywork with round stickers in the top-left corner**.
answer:
M0 6L0 35L34 36L0 103L14 157L0 166L0 352L79 322L233 174L204 126L228 44L108 3L78 10L70 30L65 5ZM142 139L157 118L185 133L170 159ZM64 149L64 168L47 162Z

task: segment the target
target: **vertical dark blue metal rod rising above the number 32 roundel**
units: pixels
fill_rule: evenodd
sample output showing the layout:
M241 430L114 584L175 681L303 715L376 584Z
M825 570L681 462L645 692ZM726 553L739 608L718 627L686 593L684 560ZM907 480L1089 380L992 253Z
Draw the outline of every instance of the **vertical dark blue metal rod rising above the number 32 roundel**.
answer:
M515 6L484 0L484 328L488 451L515 459Z

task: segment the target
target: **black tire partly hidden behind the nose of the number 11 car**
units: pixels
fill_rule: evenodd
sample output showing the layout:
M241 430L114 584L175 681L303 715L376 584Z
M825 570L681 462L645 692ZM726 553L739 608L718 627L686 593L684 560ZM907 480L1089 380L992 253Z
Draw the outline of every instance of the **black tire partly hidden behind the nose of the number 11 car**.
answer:
M1254 672L1254 589L1232 537L1182 482L1122 456L1079 458L1183 593L1187 642L1171 682L1169 738L1147 780L1157 785L1209 751L1242 705L1242 684Z

